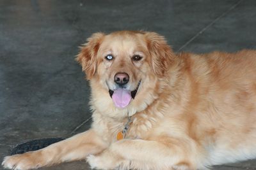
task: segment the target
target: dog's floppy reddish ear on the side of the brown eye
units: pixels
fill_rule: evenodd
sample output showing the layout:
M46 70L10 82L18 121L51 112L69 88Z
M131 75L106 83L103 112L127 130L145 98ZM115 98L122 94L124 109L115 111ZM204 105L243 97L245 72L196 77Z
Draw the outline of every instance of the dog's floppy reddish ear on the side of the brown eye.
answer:
M154 73L162 78L174 59L174 53L163 36L156 32L145 32L148 52L151 55L150 65Z

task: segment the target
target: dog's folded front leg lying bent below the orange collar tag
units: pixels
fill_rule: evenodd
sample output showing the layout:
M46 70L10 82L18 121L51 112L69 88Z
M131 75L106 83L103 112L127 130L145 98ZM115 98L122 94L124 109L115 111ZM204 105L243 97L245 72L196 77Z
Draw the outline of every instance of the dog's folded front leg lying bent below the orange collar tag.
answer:
M187 144L123 139L98 155L88 156L87 161L97 169L196 169L199 158L195 148Z

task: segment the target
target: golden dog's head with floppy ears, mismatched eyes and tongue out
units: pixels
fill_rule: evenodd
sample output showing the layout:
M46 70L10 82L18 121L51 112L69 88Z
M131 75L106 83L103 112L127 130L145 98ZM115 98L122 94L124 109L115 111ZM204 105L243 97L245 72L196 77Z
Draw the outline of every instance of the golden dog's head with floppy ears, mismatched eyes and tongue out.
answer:
M154 101L157 81L168 74L173 52L155 32L119 31L93 34L77 60L91 81L92 91L97 90L93 97L106 101L108 93L115 108L138 111Z

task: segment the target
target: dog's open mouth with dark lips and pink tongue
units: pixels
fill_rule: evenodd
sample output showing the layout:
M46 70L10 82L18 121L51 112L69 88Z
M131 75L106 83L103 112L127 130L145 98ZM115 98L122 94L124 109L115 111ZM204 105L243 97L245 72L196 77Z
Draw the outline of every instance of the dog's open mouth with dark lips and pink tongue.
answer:
M124 88L119 88L116 90L109 89L109 95L112 98L115 106L117 108L125 108L126 106L128 106L128 104L131 102L131 99L135 98L137 91L140 87L140 83L141 81L139 81L136 89L132 91Z

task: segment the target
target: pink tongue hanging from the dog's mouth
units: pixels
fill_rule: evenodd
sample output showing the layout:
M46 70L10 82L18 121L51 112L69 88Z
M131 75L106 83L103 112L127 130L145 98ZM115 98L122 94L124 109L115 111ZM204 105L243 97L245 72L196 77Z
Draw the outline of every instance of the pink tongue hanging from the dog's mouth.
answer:
M131 92L124 89L117 89L112 95L113 102L117 108L125 108L130 103L131 98Z

